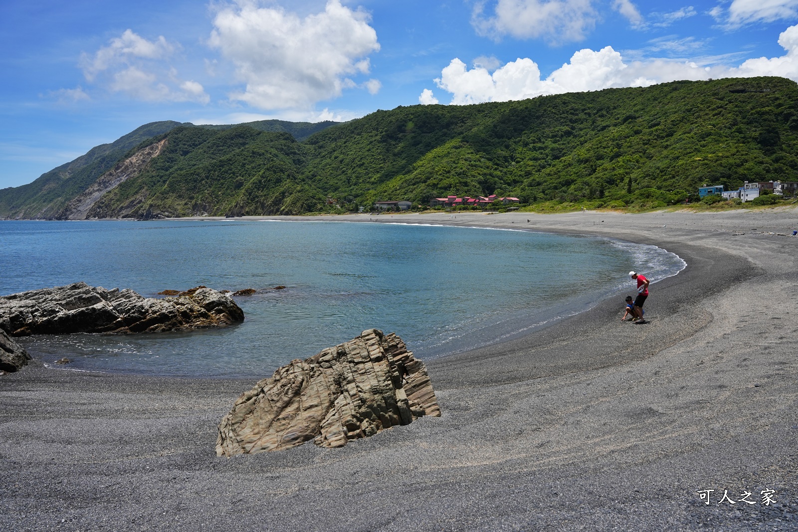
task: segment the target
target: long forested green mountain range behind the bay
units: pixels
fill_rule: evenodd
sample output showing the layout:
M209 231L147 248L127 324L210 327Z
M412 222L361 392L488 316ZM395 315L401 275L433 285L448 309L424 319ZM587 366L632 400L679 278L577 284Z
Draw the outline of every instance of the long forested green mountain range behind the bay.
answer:
M59 167L0 191L0 217L299 214L338 208L328 197L354 209L448 194L655 207L704 183L798 180L798 85L778 77L415 105L318 131L157 124L171 125L103 175Z

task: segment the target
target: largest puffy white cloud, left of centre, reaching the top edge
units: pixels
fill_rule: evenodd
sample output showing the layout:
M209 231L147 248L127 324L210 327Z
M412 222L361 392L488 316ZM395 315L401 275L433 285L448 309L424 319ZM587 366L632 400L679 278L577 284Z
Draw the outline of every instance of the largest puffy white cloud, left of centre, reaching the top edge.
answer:
M213 26L210 45L246 84L231 99L261 109L309 108L340 96L358 86L352 77L369 73L368 56L380 49L368 14L338 0L304 18L241 0L219 10ZM361 86L375 93L381 85Z

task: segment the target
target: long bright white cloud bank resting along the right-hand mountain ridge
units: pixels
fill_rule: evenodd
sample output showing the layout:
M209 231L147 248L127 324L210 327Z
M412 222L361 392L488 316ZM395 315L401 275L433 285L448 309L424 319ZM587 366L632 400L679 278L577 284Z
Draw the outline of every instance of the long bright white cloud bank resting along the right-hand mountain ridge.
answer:
M441 71L435 83L452 94L450 103L476 104L610 87L649 86L675 80L780 76L798 81L798 26L790 26L781 33L779 44L786 50L783 56L749 59L738 67L663 58L624 61L621 53L611 46L599 51L582 49L545 79L541 78L535 61L529 58L511 61L493 73L481 66L468 69L463 61L455 58ZM419 101L428 103L429 98L432 98L432 91L425 89Z

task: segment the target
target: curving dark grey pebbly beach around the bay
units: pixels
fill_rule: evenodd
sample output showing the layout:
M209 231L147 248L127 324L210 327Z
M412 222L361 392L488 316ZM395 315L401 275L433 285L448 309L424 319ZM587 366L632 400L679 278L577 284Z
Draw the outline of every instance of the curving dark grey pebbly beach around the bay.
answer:
M0 377L0 530L798 530L796 208L449 216L372 219L597 234L687 267L650 287L647 325L610 298L429 361L443 416L342 449L217 458L260 375L34 363Z

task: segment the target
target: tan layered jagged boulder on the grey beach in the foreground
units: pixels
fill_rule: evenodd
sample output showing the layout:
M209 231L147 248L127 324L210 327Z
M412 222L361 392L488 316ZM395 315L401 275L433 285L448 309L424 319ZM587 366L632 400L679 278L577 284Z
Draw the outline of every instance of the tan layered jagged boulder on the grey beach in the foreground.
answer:
M219 424L216 454L279 451L309 439L342 447L421 416L440 416L422 361L378 329L279 368Z

